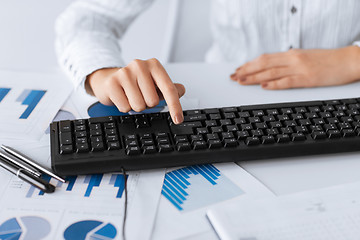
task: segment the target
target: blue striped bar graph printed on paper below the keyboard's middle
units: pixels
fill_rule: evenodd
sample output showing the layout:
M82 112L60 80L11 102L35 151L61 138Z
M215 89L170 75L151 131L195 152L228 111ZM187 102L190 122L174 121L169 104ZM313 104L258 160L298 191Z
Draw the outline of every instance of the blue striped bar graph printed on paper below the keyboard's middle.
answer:
M168 172L162 195L179 211L199 209L244 194L212 164Z

